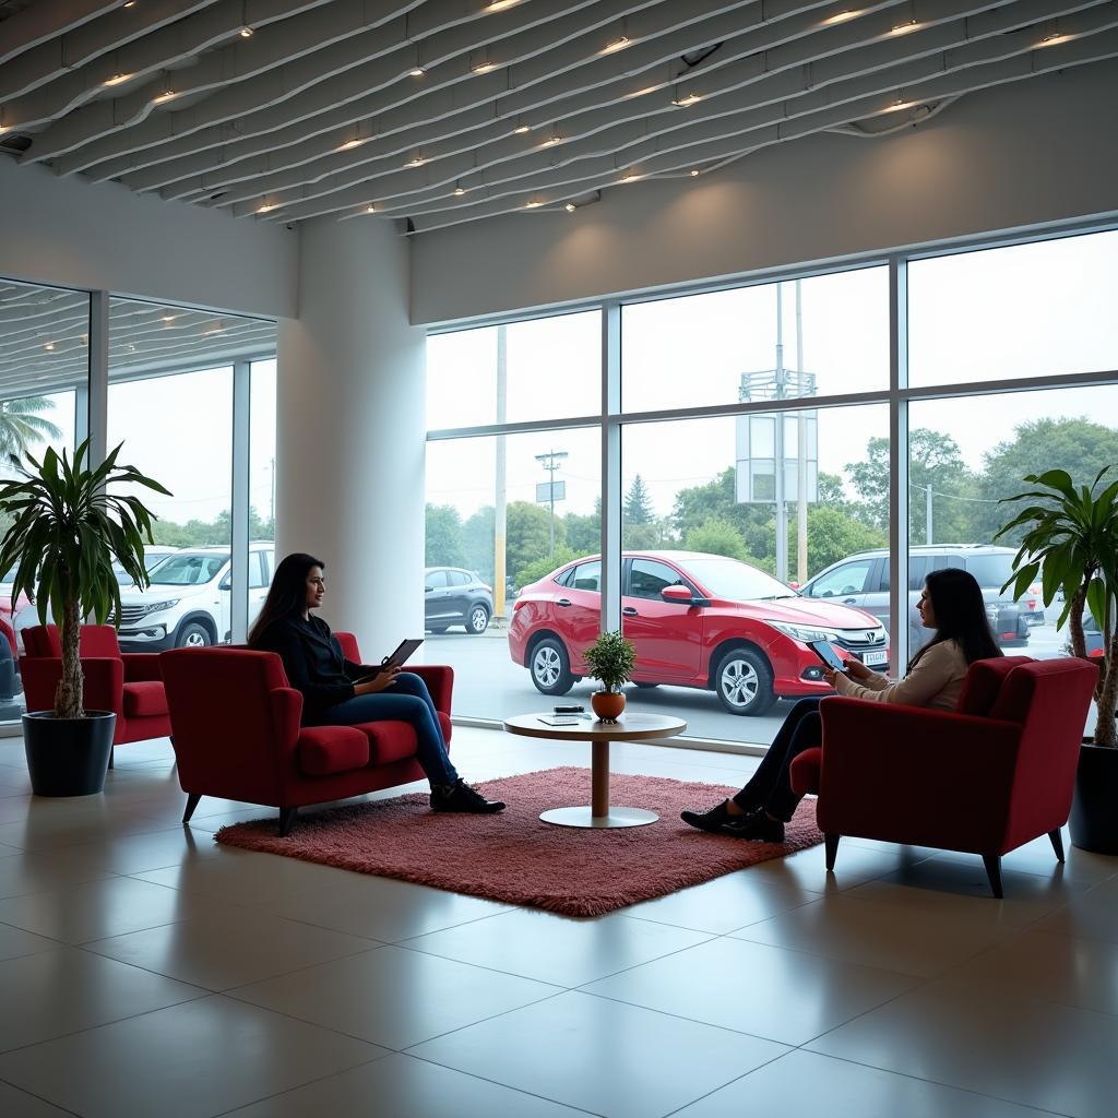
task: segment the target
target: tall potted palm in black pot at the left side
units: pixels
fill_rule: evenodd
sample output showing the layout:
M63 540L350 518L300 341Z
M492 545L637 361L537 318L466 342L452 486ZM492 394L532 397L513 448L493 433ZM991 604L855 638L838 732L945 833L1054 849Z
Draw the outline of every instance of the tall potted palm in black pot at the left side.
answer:
M0 570L16 568L12 600L27 593L42 624L48 609L61 619L54 710L23 716L27 767L39 796L87 796L105 783L116 716L83 709L82 620L92 616L103 625L111 612L120 616L113 560L142 589L148 585L144 539L154 542L153 514L139 498L111 494L107 486L143 485L171 495L134 466L117 466L120 451L96 467L87 464L88 439L73 463L65 451L59 457L49 448L41 463L27 454L26 467L13 455L18 476L0 482L0 510L12 518L0 540Z

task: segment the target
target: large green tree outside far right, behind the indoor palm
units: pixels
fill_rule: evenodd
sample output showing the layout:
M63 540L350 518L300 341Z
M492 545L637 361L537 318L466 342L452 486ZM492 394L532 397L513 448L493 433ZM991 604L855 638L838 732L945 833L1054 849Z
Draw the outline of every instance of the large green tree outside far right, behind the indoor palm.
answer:
M1065 470L1077 489L1090 486L1099 471L1118 463L1118 430L1088 419L1031 419L1020 424L1013 437L998 443L983 457L974 495L976 543L994 541L998 529L1013 519L1015 510L998 505L1005 496L1021 493L1029 486L1026 474L1043 474L1049 470ZM1023 529L1003 536L997 543L1016 547Z

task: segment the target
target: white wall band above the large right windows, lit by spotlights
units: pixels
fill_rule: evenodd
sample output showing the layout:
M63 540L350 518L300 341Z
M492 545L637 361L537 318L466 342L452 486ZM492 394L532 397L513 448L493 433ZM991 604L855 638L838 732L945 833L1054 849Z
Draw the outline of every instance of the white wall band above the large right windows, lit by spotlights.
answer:
M413 238L411 320L548 306L1118 211L1118 63L972 94L877 140L818 135L574 215Z

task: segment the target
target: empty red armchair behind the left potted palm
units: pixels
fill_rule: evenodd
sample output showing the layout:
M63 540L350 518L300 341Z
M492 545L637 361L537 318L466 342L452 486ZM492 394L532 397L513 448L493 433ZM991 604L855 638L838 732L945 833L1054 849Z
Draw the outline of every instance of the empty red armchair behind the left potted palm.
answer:
M63 674L58 627L32 625L23 629L23 650L20 671L27 709L50 710ZM82 671L85 674L85 705L89 710L111 710L116 714L114 746L163 738L171 732L155 653L122 653L112 625L83 625Z

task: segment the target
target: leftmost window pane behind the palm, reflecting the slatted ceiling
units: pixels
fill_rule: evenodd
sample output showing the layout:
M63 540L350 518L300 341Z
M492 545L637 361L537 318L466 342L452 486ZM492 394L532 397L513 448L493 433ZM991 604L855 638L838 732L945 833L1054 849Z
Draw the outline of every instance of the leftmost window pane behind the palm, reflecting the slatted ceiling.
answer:
M73 453L87 423L88 378L88 294L0 281L0 475L15 476L11 455ZM10 522L0 513L0 533ZM25 712L19 634L39 624L26 595L12 599L13 574L0 571L0 723Z

